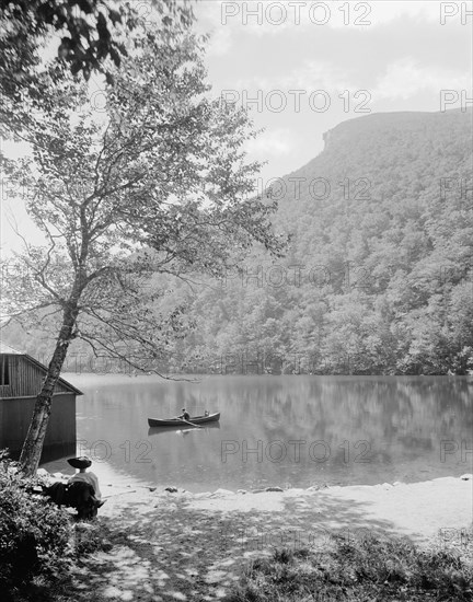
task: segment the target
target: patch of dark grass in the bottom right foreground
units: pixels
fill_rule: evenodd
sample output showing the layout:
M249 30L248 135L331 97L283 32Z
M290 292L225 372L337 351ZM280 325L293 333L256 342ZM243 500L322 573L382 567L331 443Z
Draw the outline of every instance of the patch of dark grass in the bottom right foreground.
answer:
M256 560L228 602L473 600L473 568L405 540L334 536L323 552L276 551Z

